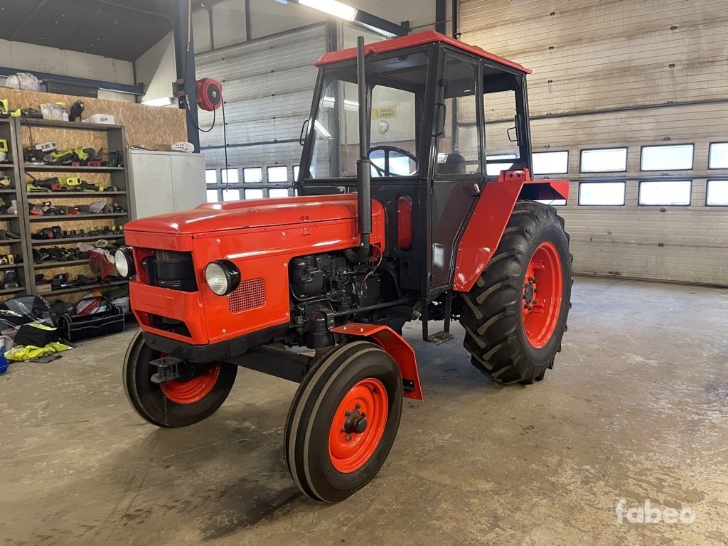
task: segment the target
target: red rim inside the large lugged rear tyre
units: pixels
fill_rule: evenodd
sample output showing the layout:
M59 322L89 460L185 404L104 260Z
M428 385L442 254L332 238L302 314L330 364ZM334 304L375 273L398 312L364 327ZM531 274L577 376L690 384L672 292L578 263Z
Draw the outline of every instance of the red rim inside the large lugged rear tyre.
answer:
M558 250L542 242L531 256L523 278L523 332L540 349L553 336L561 312L563 276Z

